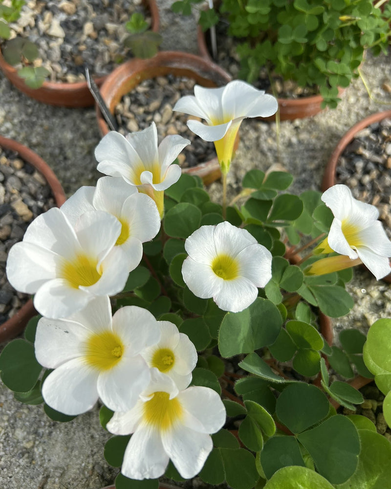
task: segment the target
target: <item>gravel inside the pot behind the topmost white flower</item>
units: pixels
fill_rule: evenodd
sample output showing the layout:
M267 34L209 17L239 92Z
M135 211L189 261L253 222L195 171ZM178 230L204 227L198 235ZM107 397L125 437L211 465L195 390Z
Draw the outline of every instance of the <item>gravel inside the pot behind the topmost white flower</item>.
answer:
M195 166L216 157L213 142L204 141L190 131L189 118L201 120L182 112L173 112L176 101L184 95L194 95L195 80L174 75L159 76L141 82L122 97L114 114L119 132L140 131L155 122L159 143L169 134L179 134L191 141L178 156L182 167Z

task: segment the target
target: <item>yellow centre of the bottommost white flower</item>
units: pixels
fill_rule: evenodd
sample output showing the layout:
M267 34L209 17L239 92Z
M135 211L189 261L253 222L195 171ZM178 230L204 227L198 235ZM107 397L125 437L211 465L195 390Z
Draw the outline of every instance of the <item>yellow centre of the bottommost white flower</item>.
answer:
M170 399L167 392L155 392L152 399L144 404L144 421L159 430L170 429L182 416L180 402L176 398Z

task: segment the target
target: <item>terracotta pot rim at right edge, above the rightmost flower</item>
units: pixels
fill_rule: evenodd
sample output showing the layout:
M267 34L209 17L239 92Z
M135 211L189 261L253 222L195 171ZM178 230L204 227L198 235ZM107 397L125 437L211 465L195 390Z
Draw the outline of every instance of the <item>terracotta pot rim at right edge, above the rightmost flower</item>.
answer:
M327 162L326 170L322 180L323 192L327 190L329 187L338 183L337 166L338 166L339 158L342 155L342 153L345 151L348 144L354 139L354 136L358 132L370 126L371 124L374 124L375 122L380 122L381 120L386 119L388 117L391 117L391 111L376 112L375 114L371 114L365 119L355 124L352 128L348 130L347 133L345 133L342 136L337 146L335 147L334 151L332 152L330 159ZM387 277L384 277L382 280L391 282L391 274L387 275Z

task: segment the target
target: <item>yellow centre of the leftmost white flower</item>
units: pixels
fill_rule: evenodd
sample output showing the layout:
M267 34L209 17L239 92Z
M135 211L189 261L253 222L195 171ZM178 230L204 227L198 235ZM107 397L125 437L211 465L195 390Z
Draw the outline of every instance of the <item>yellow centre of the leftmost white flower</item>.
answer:
M61 270L61 276L71 287L89 287L101 278L97 270L98 261L87 255L77 255L73 261L66 261Z

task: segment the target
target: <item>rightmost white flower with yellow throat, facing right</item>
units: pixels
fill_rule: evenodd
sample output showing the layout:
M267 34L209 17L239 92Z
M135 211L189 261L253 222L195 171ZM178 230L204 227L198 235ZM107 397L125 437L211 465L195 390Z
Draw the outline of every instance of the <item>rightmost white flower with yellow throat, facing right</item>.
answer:
M360 259L377 280L391 271L391 242L378 221L379 212L373 205L352 197L346 185L334 185L322 195L334 214L328 237L316 251L336 251L350 260ZM329 270L332 271L332 270Z

